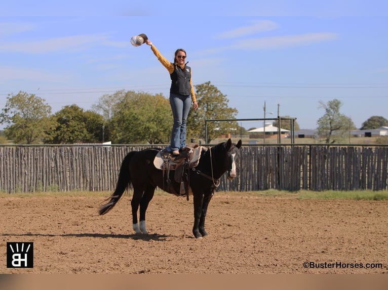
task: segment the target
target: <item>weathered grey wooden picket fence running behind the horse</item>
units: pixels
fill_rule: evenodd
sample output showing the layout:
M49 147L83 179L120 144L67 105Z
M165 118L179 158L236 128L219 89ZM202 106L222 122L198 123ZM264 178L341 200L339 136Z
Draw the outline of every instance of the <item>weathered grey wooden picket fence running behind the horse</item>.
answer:
M1 146L0 192L112 191L121 161L146 146ZM386 190L388 147L243 146L219 190Z

